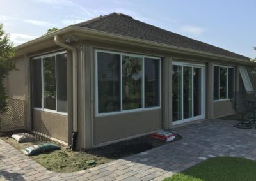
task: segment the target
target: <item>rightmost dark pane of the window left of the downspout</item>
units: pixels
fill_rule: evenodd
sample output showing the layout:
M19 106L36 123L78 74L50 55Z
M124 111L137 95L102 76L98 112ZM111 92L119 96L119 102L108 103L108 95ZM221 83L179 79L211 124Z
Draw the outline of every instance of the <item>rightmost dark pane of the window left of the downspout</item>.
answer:
M56 55L57 111L67 112L67 54Z

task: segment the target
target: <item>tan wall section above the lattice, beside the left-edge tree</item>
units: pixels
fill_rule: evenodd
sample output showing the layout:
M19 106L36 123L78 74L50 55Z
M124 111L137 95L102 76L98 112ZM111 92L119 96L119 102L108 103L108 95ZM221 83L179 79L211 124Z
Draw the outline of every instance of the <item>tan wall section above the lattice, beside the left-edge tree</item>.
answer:
M6 79L8 98L10 99L25 99L26 94L26 61L24 57L14 59L18 71L12 71Z

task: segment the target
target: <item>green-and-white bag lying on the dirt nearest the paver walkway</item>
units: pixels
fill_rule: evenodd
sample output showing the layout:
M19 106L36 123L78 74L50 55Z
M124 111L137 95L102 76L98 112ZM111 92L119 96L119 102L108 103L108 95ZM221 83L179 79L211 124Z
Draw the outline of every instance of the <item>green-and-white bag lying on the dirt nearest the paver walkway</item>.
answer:
M51 150L60 150L60 147L54 143L44 143L41 145L32 145L31 147L24 148L21 150L21 152L27 156L31 156Z

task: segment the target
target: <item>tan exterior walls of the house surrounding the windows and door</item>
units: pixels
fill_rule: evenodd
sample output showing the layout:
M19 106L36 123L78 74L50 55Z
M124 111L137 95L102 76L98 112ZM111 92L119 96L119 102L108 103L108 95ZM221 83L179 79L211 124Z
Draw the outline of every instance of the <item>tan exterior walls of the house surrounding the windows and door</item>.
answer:
M172 61L188 62L206 65L206 83L213 83L209 77L208 69L212 63L223 64L223 61L204 59L204 57L195 57L181 54L167 54L163 51L156 51L154 48L131 47L125 43L108 43L94 41L79 41L76 43L78 54L78 137L77 148L90 148L95 145L108 141L120 140L129 136L150 133L158 129L168 129L172 127ZM60 47L49 48L35 52L35 54L44 54L47 51L57 50ZM141 110L140 112L118 113L115 115L95 117L95 66L94 49L112 50L115 52L127 52L131 54L151 55L163 58L161 75L161 108L155 110ZM35 55L35 54L29 54ZM8 96L10 98L26 99L26 89L28 87L28 62L26 57L15 59L19 71L13 71L6 84L8 85ZM168 62L166 62L168 61ZM211 62L211 66L209 63ZM228 63L227 63L228 64ZM211 70L212 71L212 70ZM213 76L213 74L212 74ZM211 80L211 81L210 81ZM251 77L253 86L256 88L256 78ZM164 82L163 82L164 81ZM166 84L166 82L169 84ZM207 88L207 89L206 89ZM230 101L209 101L212 99L211 86L205 85L207 90L207 99L205 109L207 112L212 110L212 117L221 117L234 113ZM255 89L256 90L256 89ZM213 91L213 90L212 90ZM210 95L210 96L209 96ZM168 99L168 100L164 100ZM208 103L209 101L209 103ZM29 102L29 101L28 101ZM26 105L29 110L29 105ZM206 108L207 106L207 108ZM211 108L211 109L210 109ZM207 115L207 112L206 115ZM211 117L209 114L207 117ZM206 117L206 118L207 118ZM71 141L72 133L72 61L71 54L68 52L68 116L56 113L42 112L32 110L32 129L44 134L48 134L59 140Z

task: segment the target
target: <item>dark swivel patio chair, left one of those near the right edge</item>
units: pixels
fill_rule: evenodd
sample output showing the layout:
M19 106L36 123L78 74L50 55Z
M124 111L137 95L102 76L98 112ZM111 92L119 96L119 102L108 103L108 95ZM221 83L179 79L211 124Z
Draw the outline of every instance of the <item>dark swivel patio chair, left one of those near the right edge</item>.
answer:
M234 127L239 129L251 129L252 127L248 124L248 120L244 119L244 116L248 113L246 92L234 92L230 101L232 109L234 109L237 114L241 115L241 119L238 119L239 122Z

